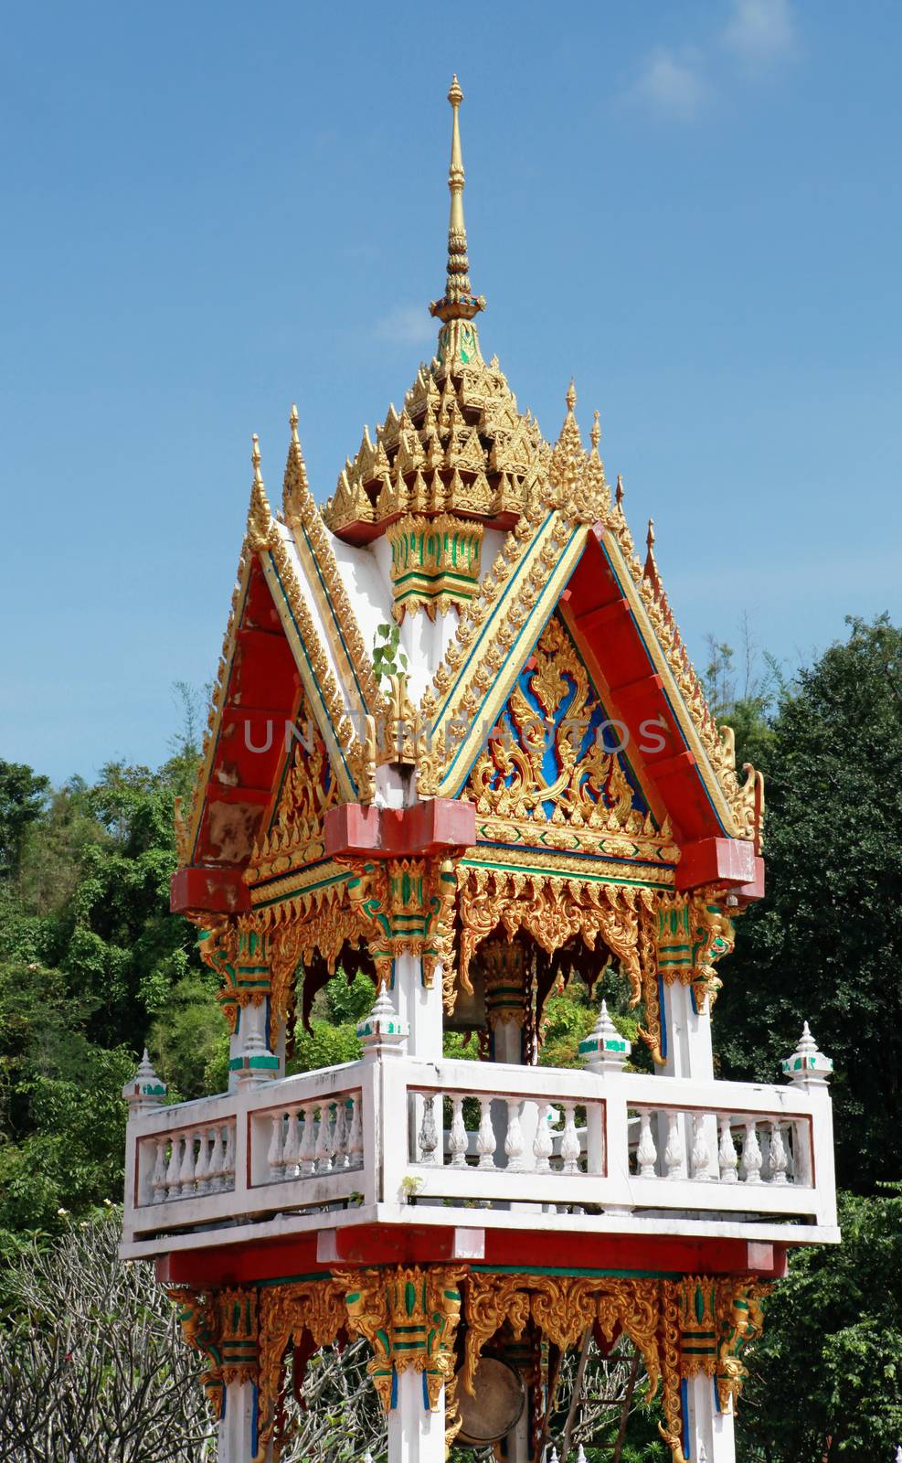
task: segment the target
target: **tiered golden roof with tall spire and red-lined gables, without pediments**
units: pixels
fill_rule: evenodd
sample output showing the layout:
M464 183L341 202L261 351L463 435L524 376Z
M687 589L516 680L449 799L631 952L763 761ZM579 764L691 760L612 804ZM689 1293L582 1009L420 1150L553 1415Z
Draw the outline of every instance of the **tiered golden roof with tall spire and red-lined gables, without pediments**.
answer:
M605 477L598 413L586 448L570 383L550 443L519 410L497 360L482 357L475 317L485 301L469 281L456 78L449 101L447 279L430 306L440 325L436 357L374 440L364 430L323 509L307 481L297 411L281 512L270 508L254 439L247 534L197 787L180 824L180 863L240 878L253 862L291 762L279 718L294 724L301 708L335 775L330 797L379 796L377 768L389 761L379 726L402 708L414 727L402 761L417 770L420 799L466 799L485 736L554 612L633 742L651 723L661 732L659 752L634 758L658 824L665 819L684 849L709 838L757 851L760 777L737 780L732 734L706 705L651 524L645 562L636 554L621 483L611 492ZM491 562L482 563L484 550ZM415 628L427 616L431 639ZM380 686L373 669L374 636L392 617L411 660L401 688ZM240 882L211 876L208 907L227 887L235 907L246 901ZM196 907L199 888L196 879L180 907Z

